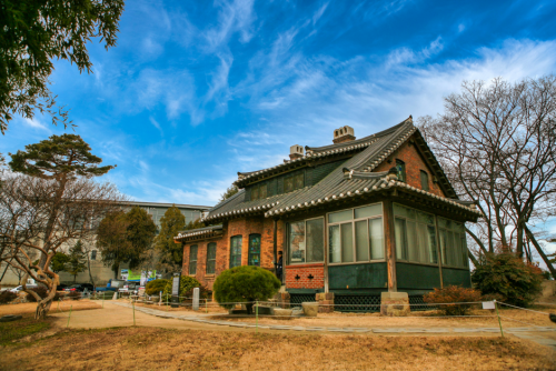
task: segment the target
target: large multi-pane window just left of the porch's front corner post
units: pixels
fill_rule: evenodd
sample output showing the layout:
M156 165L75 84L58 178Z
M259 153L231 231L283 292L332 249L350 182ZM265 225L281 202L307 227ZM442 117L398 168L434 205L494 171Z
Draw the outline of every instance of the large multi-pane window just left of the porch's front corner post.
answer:
M384 259L383 234L381 203L329 213L329 262Z

